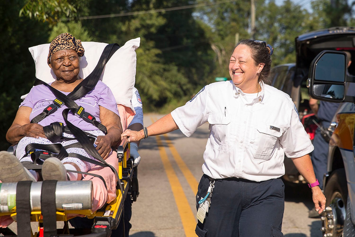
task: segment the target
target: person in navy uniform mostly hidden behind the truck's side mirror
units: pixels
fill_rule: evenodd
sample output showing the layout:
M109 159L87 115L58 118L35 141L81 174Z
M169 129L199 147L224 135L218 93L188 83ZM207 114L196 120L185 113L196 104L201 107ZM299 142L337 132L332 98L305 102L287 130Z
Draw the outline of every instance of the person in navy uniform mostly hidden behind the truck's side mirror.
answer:
M346 53L346 63L347 68L349 68L351 64L351 54L348 51L343 52ZM337 112L339 103L320 101L318 104L317 99L310 98L309 105L312 112L316 114L318 119L320 119L319 125L322 127L316 129L313 139L314 150L311 159L314 173L320 184L319 186L323 189L323 176L327 172L329 137L322 132L322 129L327 131L329 128L335 112ZM317 218L320 216L321 215L314 208L308 213L308 217L310 218Z

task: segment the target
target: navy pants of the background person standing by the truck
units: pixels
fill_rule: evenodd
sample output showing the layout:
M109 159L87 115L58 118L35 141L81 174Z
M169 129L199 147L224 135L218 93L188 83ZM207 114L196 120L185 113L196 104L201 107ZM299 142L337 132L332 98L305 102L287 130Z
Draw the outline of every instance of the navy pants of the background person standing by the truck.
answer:
M323 121L320 125L327 129L329 122ZM327 172L329 143L323 139L321 129L317 128L313 139L314 150L312 151L311 160L313 164L314 173L319 181L319 187L323 189L323 176Z

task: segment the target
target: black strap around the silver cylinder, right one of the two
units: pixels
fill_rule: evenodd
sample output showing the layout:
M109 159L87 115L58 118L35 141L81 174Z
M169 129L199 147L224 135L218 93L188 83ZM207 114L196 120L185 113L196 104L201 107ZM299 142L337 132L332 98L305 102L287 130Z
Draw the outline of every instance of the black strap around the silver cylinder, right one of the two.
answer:
M57 215L55 203L56 180L45 180L41 188L41 212L43 215L43 236L57 235Z

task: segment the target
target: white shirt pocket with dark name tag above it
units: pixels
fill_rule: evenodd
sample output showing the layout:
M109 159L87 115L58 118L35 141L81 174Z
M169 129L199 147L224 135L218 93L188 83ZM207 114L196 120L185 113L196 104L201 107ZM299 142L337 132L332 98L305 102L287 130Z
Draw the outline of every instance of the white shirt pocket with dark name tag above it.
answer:
M274 123L257 123L256 149L253 157L256 159L269 160L272 153L277 148L279 137L283 133L283 128Z

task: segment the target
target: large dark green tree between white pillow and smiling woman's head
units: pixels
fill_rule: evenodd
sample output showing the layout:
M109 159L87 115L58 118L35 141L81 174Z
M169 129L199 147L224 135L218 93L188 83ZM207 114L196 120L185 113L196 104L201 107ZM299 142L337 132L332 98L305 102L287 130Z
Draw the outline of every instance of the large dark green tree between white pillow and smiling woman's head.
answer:
M191 1L90 1L91 16L162 9L191 4ZM78 12L81 14L81 12ZM137 49L136 87L147 110L191 98L198 87L211 82L212 49L192 10L151 12L124 17L82 20L94 39L123 44L141 37ZM203 55L203 60L201 60ZM149 102L148 102L149 101ZM184 100L183 100L184 101ZM146 110L146 111L147 111Z

